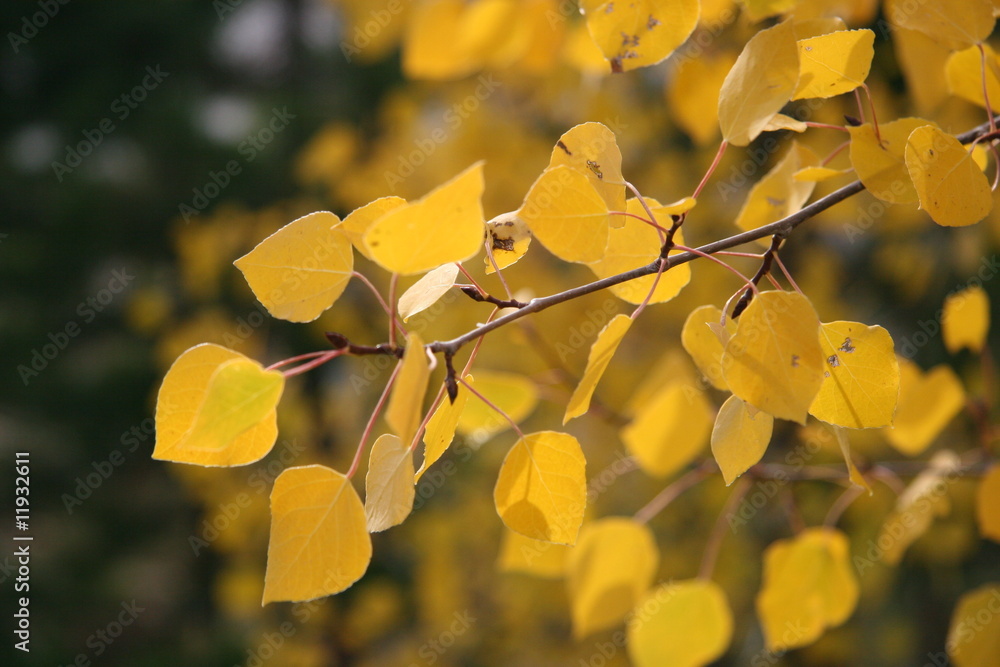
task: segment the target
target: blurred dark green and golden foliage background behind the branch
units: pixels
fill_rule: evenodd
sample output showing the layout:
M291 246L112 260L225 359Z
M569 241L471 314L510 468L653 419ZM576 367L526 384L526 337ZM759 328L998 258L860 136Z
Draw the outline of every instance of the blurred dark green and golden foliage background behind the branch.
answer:
M326 330L371 343L384 337L377 304L356 282L316 323L264 316L232 266L258 241L314 210L343 216L387 194L420 196L480 159L487 217L513 210L555 140L584 121L616 132L625 174L644 194L679 199L719 137L684 117L690 104L670 99L671 77L685 59L731 61L756 29L737 6L706 2L699 38L679 55L612 77L575 3L525 0L497 10L488 34L477 37L488 56L446 63L438 80L428 80L408 74L401 55L414 4L3 3L0 468L9 479L13 452L30 451L35 538L32 651L11 651L15 664L627 664L620 646L612 655L599 648L611 631L573 639L564 581L498 568L502 525L492 487L513 442L509 432L462 439L438 464L450 462L452 472L418 489L408 522L376 536L368 574L352 589L310 605L261 608L271 482L289 465L347 467L388 377L384 367L338 360L290 382L279 443L259 464L203 470L150 458L156 390L191 345L217 342L271 363L323 349ZM802 4L876 29L869 83L880 118L919 114L952 132L983 122L981 109L948 96L938 69L906 70L879 29L877 3ZM931 46L921 48L934 57ZM711 117L714 98L698 94ZM808 113L842 123L857 109L844 96ZM729 152L718 183L730 187L709 187L685 227L690 244L736 231L731 220L743 196L790 140L782 137L781 148L758 152L757 160ZM841 141L835 132L803 139L821 155ZM846 166L845 155L839 160L832 164ZM843 182L820 184L818 193ZM979 357L948 355L924 324L934 323L948 292L995 262L1000 216L942 229L914 207L886 209L862 194L800 232L782 257L824 321L882 324L897 349L926 339L907 356L924 368L949 364L970 396L988 396L989 371ZM482 276L480 262L470 265ZM752 262L734 263L753 270ZM374 265L359 260L359 268L387 285ZM536 247L508 277L524 294L546 294L590 274ZM678 344L686 314L704 303L721 306L737 287L726 272L696 264L685 291L644 315L634 344L619 353L598 390L607 410L569 427L584 442L592 478L613 473L600 478L590 516L631 515L663 487L640 472L619 472L615 415L627 413L644 378L656 377L650 369L670 373L688 363ZM995 282L985 289L995 304ZM450 337L484 319L484 308L456 297L415 322L428 340ZM579 373L589 346L572 342L581 327L625 309L610 295L593 295L541 314L535 333L550 352L572 348L561 361ZM921 331L928 335L915 336ZM991 341L995 349L996 335ZM539 353L545 346L518 330L489 339L480 357L485 368L534 380L541 400L525 422L531 430L556 428L568 396L567 370ZM801 437L783 427L769 459L781 460ZM959 416L927 456L946 446L968 449L975 438L973 420ZM854 444L865 460L903 458L878 433ZM816 462L836 462L834 448ZM4 489L6 508L11 485ZM958 597L1000 577L1000 548L979 539L972 519L974 490L972 482L955 484L951 513L901 566L865 573L846 625L766 664L918 665L942 650ZM795 497L806 522L819 523L839 493L814 483L797 487ZM654 518L659 580L697 572L725 498L713 477ZM841 525L858 552L893 502L879 487L847 511ZM753 595L763 548L790 534L780 505L771 503L723 544L717 580L737 629L722 664L762 655ZM13 529L6 518L0 525L7 619L0 655L7 655ZM119 629L116 637L101 634Z

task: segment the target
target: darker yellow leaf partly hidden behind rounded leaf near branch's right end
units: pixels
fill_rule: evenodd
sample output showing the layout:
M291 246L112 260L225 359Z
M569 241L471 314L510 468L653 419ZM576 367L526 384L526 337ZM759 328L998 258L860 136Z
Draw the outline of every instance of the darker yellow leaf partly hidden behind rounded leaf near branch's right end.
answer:
M847 127L851 134L851 166L872 195L893 204L917 201L917 191L906 169L906 140L913 130L927 124L923 118L880 123L881 143L871 123Z

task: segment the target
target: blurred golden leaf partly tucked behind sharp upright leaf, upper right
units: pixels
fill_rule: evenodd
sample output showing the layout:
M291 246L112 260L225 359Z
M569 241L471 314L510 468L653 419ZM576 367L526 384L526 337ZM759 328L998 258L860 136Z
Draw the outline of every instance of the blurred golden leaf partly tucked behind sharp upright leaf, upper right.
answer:
M719 134L719 91L736 63L735 54L685 58L666 88L667 104L677 125L696 144L704 146Z

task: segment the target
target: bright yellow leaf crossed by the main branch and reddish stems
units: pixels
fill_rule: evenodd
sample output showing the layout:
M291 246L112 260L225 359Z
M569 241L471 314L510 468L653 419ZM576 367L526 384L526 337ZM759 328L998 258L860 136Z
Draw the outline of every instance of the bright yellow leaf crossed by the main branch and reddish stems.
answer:
M655 199L646 198L646 205L653 211L657 224L668 229L671 225L671 215L680 215L689 211L694 208L696 203L691 197L685 197L666 205L660 204ZM633 215L648 217L642 204L636 198L628 200L625 210ZM674 241L683 245L684 235L680 229L674 235ZM612 229L608 233L608 243L603 257L587 266L598 278L607 278L649 264L660 256L660 246L660 236L655 228L642 220L626 217L624 225L619 229ZM670 254L676 255L679 252L679 250L672 250ZM619 299L639 304L643 302L653 288L653 283L656 282L656 290L649 303L663 303L677 296L690 280L691 268L687 264L681 264L662 273L658 281L656 275L653 274L613 285L609 289Z

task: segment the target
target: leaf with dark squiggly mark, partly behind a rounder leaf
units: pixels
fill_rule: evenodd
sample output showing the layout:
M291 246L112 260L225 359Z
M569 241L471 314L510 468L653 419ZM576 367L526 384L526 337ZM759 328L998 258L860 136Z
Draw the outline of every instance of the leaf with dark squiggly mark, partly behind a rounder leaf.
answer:
M582 123L563 133L552 149L548 168L563 165L586 176L609 210L625 209L622 153L615 133L607 127L601 123ZM621 227L621 218L613 216L612 224Z

